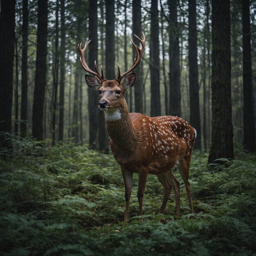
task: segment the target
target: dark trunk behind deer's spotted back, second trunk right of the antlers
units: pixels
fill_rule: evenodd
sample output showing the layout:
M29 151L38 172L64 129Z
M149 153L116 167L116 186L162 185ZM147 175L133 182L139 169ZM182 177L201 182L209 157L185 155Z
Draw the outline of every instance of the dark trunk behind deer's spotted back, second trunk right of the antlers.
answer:
M170 106L169 113L173 116L181 116L180 96L180 45L177 26L177 0L168 0L170 11L169 28L169 87Z

